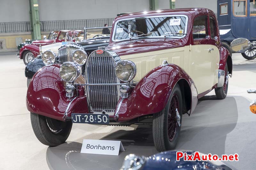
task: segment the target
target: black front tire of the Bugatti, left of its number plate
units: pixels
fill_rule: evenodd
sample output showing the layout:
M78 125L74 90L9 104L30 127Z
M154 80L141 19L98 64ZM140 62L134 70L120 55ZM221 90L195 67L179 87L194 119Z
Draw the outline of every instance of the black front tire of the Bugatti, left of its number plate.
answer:
M33 131L37 139L48 146L58 146L64 143L72 129L72 122L62 122L43 115L30 113Z

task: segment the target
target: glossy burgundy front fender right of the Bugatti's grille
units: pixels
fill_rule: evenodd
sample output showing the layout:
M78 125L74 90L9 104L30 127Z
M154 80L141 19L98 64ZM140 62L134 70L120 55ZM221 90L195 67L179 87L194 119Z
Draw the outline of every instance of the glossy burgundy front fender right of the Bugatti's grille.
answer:
M193 80L188 74L175 64L159 66L150 71L136 85L129 98L119 100L118 122L132 120L142 115L158 113L164 109L171 95L173 87L182 79L190 87L190 111L193 112L197 104L197 91ZM122 102L122 103L121 103ZM117 112L117 109L116 109Z

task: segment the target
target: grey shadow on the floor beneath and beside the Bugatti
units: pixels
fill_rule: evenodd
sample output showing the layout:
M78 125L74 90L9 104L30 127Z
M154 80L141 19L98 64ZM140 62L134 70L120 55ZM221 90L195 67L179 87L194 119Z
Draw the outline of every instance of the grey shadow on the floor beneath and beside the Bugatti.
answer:
M231 106L231 107L230 107ZM227 97L215 100L212 96L202 98L194 113L183 115L177 150L194 150L202 153L224 154L226 136L238 119L236 100ZM88 136L87 136L88 137ZM86 136L83 139L89 139ZM119 156L80 153L82 144L66 142L48 147L46 160L50 169L119 169L127 154L149 156L157 153L154 146L152 126L138 126L135 130L118 130L101 138L120 140L125 152Z

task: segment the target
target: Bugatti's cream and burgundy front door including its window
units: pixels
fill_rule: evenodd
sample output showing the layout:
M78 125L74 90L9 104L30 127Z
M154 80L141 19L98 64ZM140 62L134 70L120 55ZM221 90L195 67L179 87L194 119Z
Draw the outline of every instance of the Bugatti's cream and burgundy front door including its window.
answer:
M195 82L198 94L211 90L215 83L212 56L213 51L219 50L212 45L208 17L208 14L205 14L194 19L193 40L189 49L188 73Z

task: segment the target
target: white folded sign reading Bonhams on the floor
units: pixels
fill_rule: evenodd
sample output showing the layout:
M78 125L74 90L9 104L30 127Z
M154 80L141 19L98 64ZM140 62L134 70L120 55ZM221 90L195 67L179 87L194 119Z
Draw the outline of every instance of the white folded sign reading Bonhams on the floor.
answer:
M118 155L124 151L121 141L84 139L80 153Z

